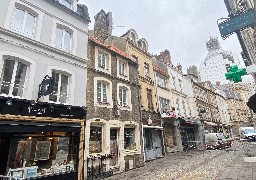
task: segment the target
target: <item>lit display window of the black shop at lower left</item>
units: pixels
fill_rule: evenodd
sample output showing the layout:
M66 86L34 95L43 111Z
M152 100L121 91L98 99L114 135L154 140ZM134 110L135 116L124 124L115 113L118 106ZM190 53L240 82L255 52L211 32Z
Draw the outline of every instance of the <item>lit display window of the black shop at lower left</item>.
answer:
M16 134L11 138L5 169L20 179L77 171L79 134L43 132Z

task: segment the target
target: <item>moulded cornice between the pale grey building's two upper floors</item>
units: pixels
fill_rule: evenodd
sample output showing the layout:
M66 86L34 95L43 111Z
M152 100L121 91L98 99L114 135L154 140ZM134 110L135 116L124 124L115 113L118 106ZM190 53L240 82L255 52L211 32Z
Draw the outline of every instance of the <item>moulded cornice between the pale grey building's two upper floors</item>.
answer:
M34 48L34 47L25 46L25 45L23 45L23 44L21 44L21 43L14 42L14 41L11 41L11 40L9 40L9 39L5 39L5 38L3 38L3 37L0 37L0 40L1 40L1 41L7 42L7 43L10 43L10 44L14 44L14 45L16 45L16 46L20 46L20 47L22 47L22 48L24 48L24 49L29 49L29 50L31 50L31 51L34 51L34 52L37 52L37 53L40 53L40 54L49 56L49 57L51 57L51 58L55 58L55 59L61 60L61 61L63 61L63 62L69 63L69 64L73 64L73 65L75 65L75 66L79 66L79 67L82 67L82 68L86 68L87 61L86 61L85 59L83 59L83 58L80 58L80 57L75 56L75 55L73 55L73 54L67 53L67 52L62 51L62 50L60 50L60 49L54 48L54 47L52 47L52 46L46 45L46 44L41 43L41 42L39 42L39 41L36 41L36 40L34 40L34 39L27 38L27 37L22 36L22 35L20 35L20 34L18 34L18 33L12 32L12 31L7 30L7 29L4 29L4 28L2 28L2 27L0 27L0 33L6 34L6 35L8 35L8 36L13 36L13 37L18 38L18 39L20 39L20 40L23 40L23 41L25 41L25 42L28 42L28 43L30 43L30 44L32 44L32 45L35 45L35 46L44 48L44 49L46 49L46 50L49 50L49 51L52 51L52 52L55 52L55 53L59 53L59 54L61 54L61 55L63 55L63 56L66 56L67 58L71 58L71 59L74 59L74 60L76 60L76 61L79 61L80 63L84 63L84 65L79 65L79 64L77 64L77 63L75 63L75 62L72 62L72 61L69 61L69 60L67 60L67 59L63 59L63 58L56 57L56 56L54 56L54 55L52 55L52 54L46 53L45 51L40 51L39 49L36 49L36 48Z

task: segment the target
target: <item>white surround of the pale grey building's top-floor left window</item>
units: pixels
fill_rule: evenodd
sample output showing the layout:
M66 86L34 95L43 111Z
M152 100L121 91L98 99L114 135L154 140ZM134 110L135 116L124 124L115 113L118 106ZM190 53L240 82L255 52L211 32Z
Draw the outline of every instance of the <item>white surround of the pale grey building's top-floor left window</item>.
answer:
M8 10L7 10L7 13L5 16L4 28L11 29L16 8L25 10L35 16L34 33L33 33L32 37L29 37L29 38L40 41L44 12L39 11L38 9L36 9L32 6L29 6L28 4L25 4L21 1L17 2L15 0L10 0ZM17 31L15 31L15 32L17 32ZM17 33L19 33L19 32L17 32ZM21 33L19 33L19 34L21 34ZM24 35L24 34L21 34L21 35Z

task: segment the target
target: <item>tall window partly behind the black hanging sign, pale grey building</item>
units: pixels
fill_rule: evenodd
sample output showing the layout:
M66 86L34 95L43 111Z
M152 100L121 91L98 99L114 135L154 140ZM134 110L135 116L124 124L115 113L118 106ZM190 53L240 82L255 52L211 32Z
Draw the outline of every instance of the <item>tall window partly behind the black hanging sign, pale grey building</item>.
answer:
M69 76L60 72L52 72L54 80L53 93L49 95L49 101L67 103Z

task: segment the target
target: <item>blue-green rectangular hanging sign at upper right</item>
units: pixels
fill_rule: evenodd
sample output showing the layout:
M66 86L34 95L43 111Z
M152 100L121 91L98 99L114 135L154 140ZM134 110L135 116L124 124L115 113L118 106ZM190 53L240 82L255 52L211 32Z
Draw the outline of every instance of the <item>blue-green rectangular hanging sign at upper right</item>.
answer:
M254 9L232 17L224 22L218 24L220 34L222 38L226 38L228 35L235 31L243 30L248 26L256 23L256 12Z

